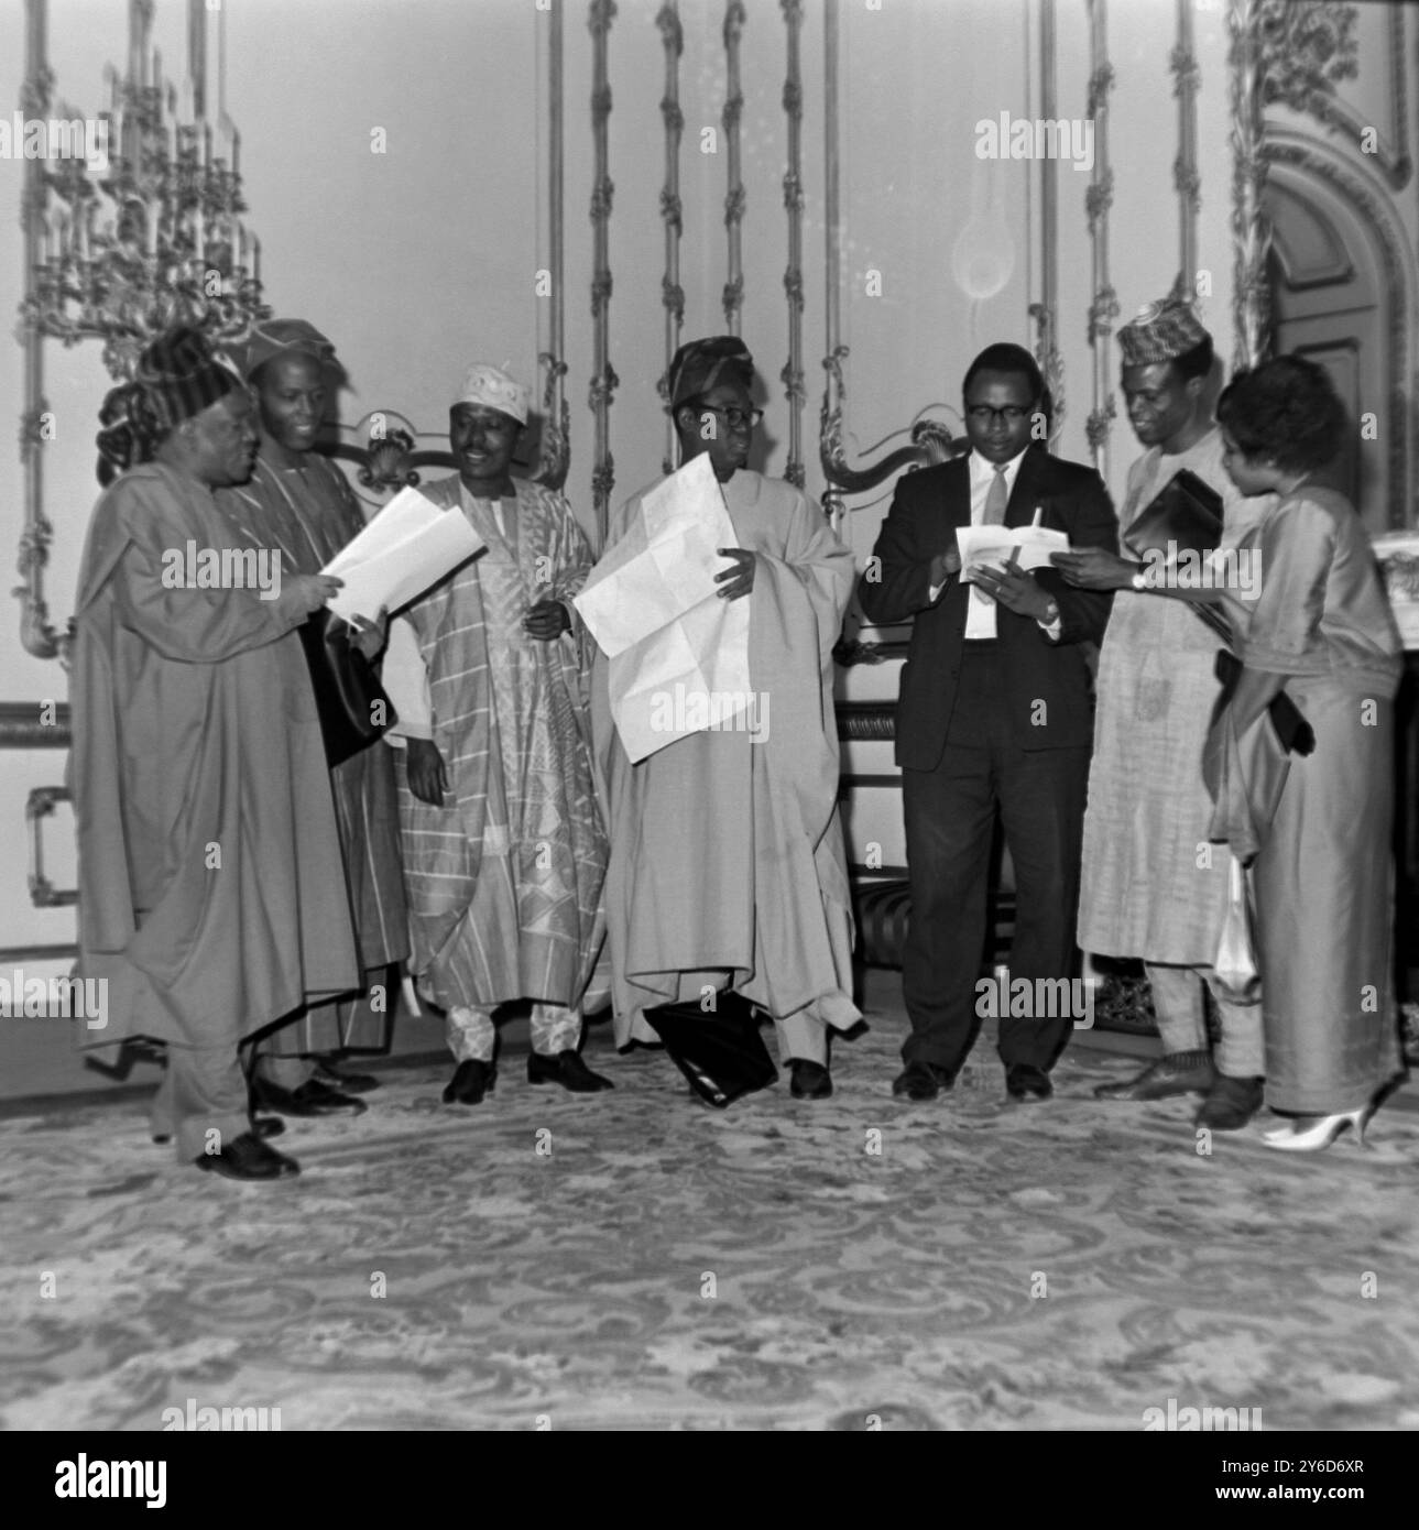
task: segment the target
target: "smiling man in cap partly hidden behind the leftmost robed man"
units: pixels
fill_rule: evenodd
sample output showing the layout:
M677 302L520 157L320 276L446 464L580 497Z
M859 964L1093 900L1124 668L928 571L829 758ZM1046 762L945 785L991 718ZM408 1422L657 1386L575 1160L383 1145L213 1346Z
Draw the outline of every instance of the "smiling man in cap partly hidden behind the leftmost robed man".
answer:
M344 474L312 450L334 364L335 347L305 320L259 321L240 352L242 373L256 395L260 451L251 477L220 490L217 506L254 546L280 549L288 578L318 574L364 529ZM383 646L380 632L351 636L367 655ZM334 1057L389 1050L387 1002L398 990L390 964L409 955L393 751L381 742L361 750L331 771L331 788L360 938L363 991L311 1005L257 1043L257 1100L288 1115L364 1109L354 1094L377 1080L338 1073Z

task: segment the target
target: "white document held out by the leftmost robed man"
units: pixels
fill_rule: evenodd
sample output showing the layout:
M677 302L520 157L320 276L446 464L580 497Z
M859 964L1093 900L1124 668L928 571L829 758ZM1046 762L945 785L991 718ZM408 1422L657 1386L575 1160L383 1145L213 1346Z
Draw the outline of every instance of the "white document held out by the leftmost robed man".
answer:
M346 621L395 612L485 546L461 509L439 509L416 488L401 488L320 571L344 580L329 607Z

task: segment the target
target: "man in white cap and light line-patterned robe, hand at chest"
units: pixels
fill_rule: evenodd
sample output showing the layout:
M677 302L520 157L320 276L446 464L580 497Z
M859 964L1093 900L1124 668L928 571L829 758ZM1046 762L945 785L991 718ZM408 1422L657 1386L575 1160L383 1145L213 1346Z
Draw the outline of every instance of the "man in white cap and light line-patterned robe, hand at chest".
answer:
M531 999L530 1083L609 1089L580 1056L603 944L606 837L571 597L591 546L566 500L513 479L528 390L487 364L449 413L459 471L421 490L487 543L390 629L384 684L404 737L400 822L419 991L447 1013L449 1103L494 1086L493 1011Z

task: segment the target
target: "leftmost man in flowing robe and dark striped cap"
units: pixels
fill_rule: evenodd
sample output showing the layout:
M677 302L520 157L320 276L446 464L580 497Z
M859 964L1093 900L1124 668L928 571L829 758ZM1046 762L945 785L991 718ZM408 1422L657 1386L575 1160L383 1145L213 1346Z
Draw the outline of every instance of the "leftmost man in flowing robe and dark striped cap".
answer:
M99 476L126 471L93 511L75 618L78 970L107 984L107 1025L86 1039L167 1043L152 1120L179 1160L285 1178L298 1166L251 1121L239 1048L358 978L295 635L340 581L208 577L227 554L251 566L213 488L250 476L257 438L199 335L156 340L103 421Z

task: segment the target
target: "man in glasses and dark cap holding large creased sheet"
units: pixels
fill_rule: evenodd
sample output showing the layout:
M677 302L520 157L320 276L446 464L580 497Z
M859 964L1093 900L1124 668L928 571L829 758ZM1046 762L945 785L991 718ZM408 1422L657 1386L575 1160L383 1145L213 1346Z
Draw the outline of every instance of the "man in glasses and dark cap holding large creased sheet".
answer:
M592 725L611 832L615 1034L621 1047L664 1040L693 1082L670 1021L681 1022L681 1037L684 1024L718 1027L761 1051L753 1010L762 1010L793 1094L824 1099L833 1091L828 1027L850 1030L862 1019L851 998L831 662L854 569L851 551L801 490L745 467L761 415L753 375L742 341L721 337L683 346L667 386L681 454L709 454L735 526L738 545L719 549L732 562L718 580L724 598L750 603L759 736L730 721L632 765L611 716L609 664L597 662ZM621 508L608 546L640 502L638 494ZM768 1082L771 1073L768 1065L755 1079ZM704 1079L701 1097L729 1103L733 1089L715 1089L713 1065Z

